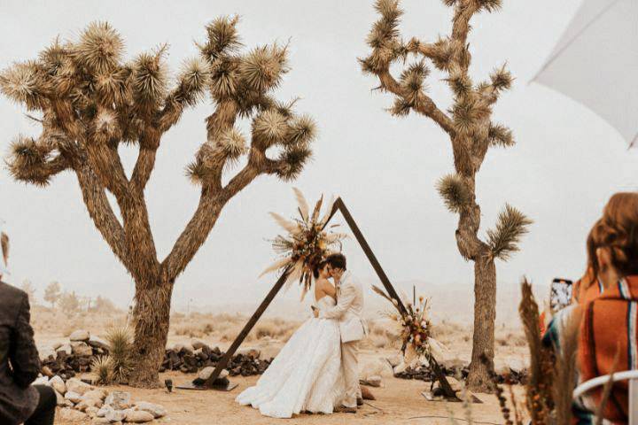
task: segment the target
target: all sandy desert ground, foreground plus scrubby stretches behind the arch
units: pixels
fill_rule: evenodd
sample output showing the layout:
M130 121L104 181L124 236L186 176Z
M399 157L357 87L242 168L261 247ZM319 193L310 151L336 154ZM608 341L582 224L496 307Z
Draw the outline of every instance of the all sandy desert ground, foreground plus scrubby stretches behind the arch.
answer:
M121 314L101 315L83 314L72 320L50 312L36 312L35 339L38 346L51 346L58 342L68 341L68 334L76 328L89 329L93 335L105 336L107 328L120 326L125 320ZM199 338L210 346L219 346L225 350L231 340L237 336L245 318L226 315L194 315L192 317L175 317L171 320L171 332L168 344L190 341L191 337ZM299 322L286 320L261 321L254 335L249 337L242 347L251 346L261 350L262 358L275 356L284 342L292 334ZM213 329L213 330L210 330ZM435 327L435 336L447 346L455 359L467 364L471 354L471 328L461 324L440 323ZM379 364L383 359L396 355L395 337L385 331L382 324L372 327L369 340L362 347L360 364ZM495 364L526 363L527 348L519 328L501 325L496 328ZM364 373L362 372L362 375ZM172 379L175 385L190 382L195 375L184 375L169 372L160 375L160 382ZM168 393L165 389L140 390L126 386L105 387L106 390L123 390L132 394L133 401L158 403L167 409L167 417L152 423L170 424L264 424L264 423L304 423L304 424L340 424L340 423L451 423L450 416L457 418L456 423L466 423L466 411L461 403L430 402L421 392L429 390L429 383L394 378L388 368L383 374L382 388L371 389L377 400L365 405L358 413L335 413L331 415L302 414L290 420L275 420L262 417L251 407L238 406L234 399L237 395L257 382L259 376L232 377L231 382L239 384L230 392L177 390ZM521 388L515 389L522 393ZM474 423L502 424L500 407L494 395L477 394L484 403L471 406ZM518 397L522 401L522 397ZM66 423L86 423L90 421L71 422L58 417L57 425Z

